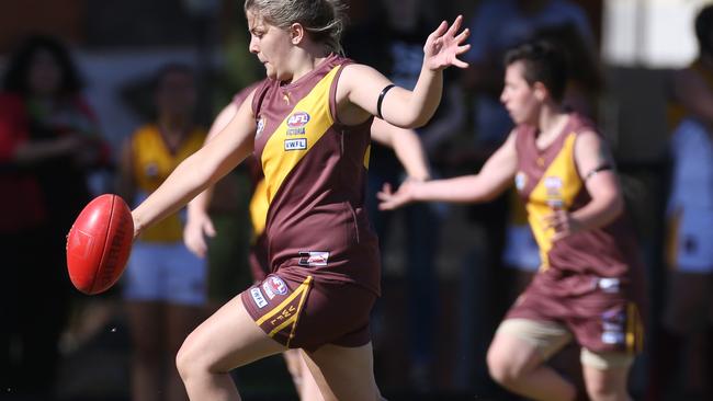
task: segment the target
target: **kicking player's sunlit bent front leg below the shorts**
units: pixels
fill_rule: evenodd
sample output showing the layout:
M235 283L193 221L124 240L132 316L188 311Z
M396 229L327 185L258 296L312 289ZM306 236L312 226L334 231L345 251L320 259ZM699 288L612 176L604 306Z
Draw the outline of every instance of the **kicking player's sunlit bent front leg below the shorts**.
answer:
M237 401L228 373L284 351L252 321L238 295L189 335L177 366L191 400Z

